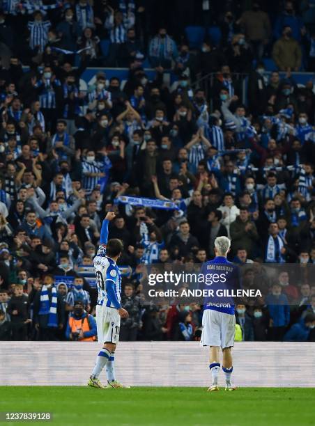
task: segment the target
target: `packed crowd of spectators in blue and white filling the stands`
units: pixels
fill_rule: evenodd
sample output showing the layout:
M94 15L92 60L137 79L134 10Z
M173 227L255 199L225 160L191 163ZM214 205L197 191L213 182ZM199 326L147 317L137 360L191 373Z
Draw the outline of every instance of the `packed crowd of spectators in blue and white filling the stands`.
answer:
M263 263L298 271L236 306L238 339L314 341L315 98L312 80L291 74L314 70L313 2L0 4L0 340L95 340L93 256L114 211L130 314L121 340L198 340L201 306L148 301L143 265L194 269L226 235L247 286L267 280ZM196 22L220 27L220 47L190 49ZM87 66L128 67L128 80L98 70L83 91ZM192 83L209 72L205 93ZM249 74L245 104L238 72Z

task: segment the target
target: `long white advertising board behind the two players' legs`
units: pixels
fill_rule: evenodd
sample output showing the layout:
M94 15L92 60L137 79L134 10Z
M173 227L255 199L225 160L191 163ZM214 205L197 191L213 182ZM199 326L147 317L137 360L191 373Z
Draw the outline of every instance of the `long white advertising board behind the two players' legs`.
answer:
M84 386L99 348L98 342L0 342L0 384ZM242 387L315 387L314 349L312 342L236 342L234 381ZM116 375L130 386L206 387L208 348L199 342L120 342Z

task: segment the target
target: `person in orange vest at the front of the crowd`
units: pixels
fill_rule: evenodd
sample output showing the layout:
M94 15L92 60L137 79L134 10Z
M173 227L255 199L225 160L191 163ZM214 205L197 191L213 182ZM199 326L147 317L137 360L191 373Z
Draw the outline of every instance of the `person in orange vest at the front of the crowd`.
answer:
M86 313L82 301L75 301L73 312L69 315L66 338L75 342L93 342L96 331L96 322L92 315Z

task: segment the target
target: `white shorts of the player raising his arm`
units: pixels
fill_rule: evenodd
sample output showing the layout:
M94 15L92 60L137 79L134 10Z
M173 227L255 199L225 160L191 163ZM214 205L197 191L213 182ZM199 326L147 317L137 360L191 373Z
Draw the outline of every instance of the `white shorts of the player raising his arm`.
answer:
M95 313L98 341L117 345L121 326L121 316L118 314L118 310L104 305L96 305Z

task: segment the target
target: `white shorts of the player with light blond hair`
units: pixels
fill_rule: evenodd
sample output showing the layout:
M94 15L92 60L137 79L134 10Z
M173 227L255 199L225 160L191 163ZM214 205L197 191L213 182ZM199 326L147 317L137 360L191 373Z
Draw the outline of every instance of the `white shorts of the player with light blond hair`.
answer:
M202 316L202 346L231 347L234 345L235 316L205 309Z

